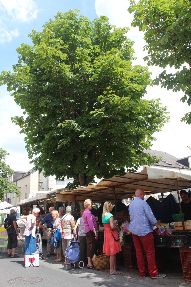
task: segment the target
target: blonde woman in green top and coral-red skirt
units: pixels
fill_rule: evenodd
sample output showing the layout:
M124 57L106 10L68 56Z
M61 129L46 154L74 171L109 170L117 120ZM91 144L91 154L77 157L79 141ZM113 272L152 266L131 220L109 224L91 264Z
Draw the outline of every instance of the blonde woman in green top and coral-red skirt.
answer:
M121 251L121 245L117 234L119 229L113 224L112 210L113 206L111 201L106 201L102 213L102 223L105 227L103 253L110 255L110 274L119 275L121 272L117 271L116 253Z

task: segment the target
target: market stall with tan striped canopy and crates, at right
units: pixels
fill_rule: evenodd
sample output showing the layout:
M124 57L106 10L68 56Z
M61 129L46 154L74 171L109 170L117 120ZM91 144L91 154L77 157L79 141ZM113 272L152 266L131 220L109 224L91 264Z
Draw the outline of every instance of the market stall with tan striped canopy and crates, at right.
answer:
M128 172L124 176L117 176L110 179L102 179L98 184L89 184L87 187L78 187L69 191L60 191L60 194L74 196L75 201L84 201L89 198L93 202L99 201L115 201L131 198L135 196L135 190L140 188L146 195L161 193L163 196L166 192L177 191L179 208L181 211L179 191L191 187L191 176L169 170L162 170L153 167L146 167L142 172ZM117 217L116 212L116 217ZM185 280L191 281L191 262L190 262L190 246L191 233L185 233L185 225L181 212L180 225L182 224L183 233L173 233L170 237L155 237L155 256L158 270L163 269L163 262L160 248L178 248L182 262L182 269ZM103 238L103 233L100 233L100 242ZM130 237L129 237L130 239ZM98 239L99 240L99 239ZM125 238L126 240L126 238ZM131 239L132 240L132 239ZM131 242L133 243L133 242ZM137 268L135 248L130 242L124 245L124 261L129 269ZM146 262L145 257L145 263Z

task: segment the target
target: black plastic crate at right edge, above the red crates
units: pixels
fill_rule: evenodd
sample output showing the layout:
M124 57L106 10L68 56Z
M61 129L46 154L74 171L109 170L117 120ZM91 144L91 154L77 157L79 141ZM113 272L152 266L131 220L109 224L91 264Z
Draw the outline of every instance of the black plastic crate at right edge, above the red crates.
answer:
M191 232L179 232L167 236L168 246L190 247Z

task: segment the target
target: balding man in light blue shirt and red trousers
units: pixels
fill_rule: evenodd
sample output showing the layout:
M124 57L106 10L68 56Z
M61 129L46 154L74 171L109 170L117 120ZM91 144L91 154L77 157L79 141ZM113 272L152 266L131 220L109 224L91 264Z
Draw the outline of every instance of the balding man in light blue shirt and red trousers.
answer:
M144 192L141 189L135 191L135 199L129 205L130 225L129 231L133 235L136 250L137 265L141 278L150 274L151 279L164 278L166 274L159 274L155 262L155 246L151 224L161 229L149 204L144 201ZM147 256L149 273L145 270L144 253Z

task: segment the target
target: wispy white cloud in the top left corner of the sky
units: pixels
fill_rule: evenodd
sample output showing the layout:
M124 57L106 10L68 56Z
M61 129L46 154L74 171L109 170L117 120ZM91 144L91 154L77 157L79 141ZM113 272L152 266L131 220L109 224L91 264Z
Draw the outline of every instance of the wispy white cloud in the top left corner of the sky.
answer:
M0 4L1 13L8 13L12 21L29 22L39 11L33 0L0 0Z

